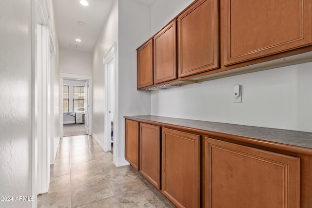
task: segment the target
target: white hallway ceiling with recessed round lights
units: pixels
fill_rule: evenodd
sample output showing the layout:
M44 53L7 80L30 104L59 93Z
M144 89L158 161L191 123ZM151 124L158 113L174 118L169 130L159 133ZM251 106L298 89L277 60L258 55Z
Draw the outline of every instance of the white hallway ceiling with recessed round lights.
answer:
M79 0L53 0L59 47L92 52L115 0L88 0L82 6ZM155 0L136 0L152 5ZM81 26L78 22L84 22ZM76 42L75 39L81 39Z

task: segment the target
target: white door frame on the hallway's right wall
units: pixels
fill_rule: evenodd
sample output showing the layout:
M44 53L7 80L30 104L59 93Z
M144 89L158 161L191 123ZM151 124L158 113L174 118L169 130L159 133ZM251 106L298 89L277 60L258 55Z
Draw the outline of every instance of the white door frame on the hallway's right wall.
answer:
M103 64L104 64L104 88L105 88L105 95L104 95L104 105L105 105L105 111L104 111L104 151L111 151L111 147L112 147L112 143L111 143L111 113L109 113L111 111L111 109L113 108L114 111L117 110L116 108L116 102L115 106L110 106L110 92L112 92L112 90L116 89L116 42L114 42L114 44L112 45L112 47L109 49L109 51L106 53L106 55L103 58ZM114 82L114 89L111 89L111 85L110 85L110 73L108 72L109 70L109 63L114 62L114 72L113 72L113 82ZM113 99L115 100L115 96L113 96ZM115 123L117 123L117 117L116 117L116 112L113 112L113 121L114 121L114 126ZM113 154L115 155L115 150L116 150L116 146L118 146L118 141L117 139L114 139L114 151Z

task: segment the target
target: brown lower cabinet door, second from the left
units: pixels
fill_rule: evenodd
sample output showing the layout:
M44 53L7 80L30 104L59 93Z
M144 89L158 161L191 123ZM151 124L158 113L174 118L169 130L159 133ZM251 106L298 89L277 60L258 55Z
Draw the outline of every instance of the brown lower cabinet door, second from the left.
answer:
M160 189L160 127L140 123L140 173Z

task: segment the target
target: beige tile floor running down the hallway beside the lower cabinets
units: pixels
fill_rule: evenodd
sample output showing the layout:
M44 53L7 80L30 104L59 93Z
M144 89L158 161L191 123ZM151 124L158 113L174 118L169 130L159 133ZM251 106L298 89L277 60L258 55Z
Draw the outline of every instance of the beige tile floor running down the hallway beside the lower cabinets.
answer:
M88 135L61 139L39 208L174 208L131 166L116 167Z

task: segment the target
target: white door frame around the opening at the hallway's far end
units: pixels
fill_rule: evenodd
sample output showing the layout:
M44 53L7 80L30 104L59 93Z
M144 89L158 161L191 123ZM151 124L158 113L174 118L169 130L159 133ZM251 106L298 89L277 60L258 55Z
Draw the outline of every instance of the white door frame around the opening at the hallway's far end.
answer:
M89 118L88 118L88 125L89 131L88 135L92 135L92 76L91 75L80 75L80 74L73 74L73 73L59 73L59 134L60 137L63 137L63 79L83 79L87 80L89 83Z

